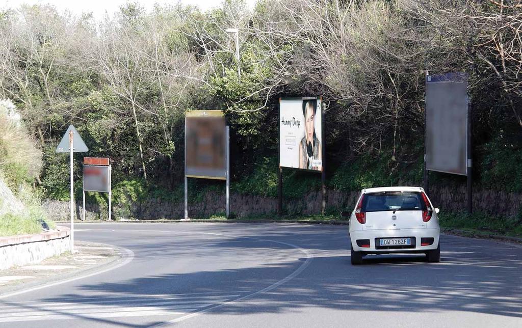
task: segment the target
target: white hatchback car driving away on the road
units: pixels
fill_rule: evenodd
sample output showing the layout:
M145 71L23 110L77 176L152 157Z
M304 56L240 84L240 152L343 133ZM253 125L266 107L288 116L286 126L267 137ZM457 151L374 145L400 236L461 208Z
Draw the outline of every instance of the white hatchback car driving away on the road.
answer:
M352 264L386 253L425 253L429 262L439 262L438 212L419 187L363 189L353 212L341 212L350 217Z

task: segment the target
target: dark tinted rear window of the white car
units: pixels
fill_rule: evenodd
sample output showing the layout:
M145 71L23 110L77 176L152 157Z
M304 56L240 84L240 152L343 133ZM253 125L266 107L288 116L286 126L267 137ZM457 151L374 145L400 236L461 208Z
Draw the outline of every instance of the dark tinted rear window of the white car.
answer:
M363 212L382 211L425 211L426 204L420 192L374 192L365 193L362 202Z

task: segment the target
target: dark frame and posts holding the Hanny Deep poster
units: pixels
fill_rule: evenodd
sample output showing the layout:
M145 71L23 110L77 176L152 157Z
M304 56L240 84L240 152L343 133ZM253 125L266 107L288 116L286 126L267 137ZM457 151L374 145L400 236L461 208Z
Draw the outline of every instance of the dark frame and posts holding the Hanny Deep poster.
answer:
M298 168L298 167L287 167L281 166L281 100L316 100L321 101L321 171L315 169L307 169L307 168ZM278 169L278 187L277 187L277 213L279 216L283 215L283 167L285 169L293 169L296 171L302 172L313 172L313 173L321 173L321 214L325 214L326 209L326 170L325 170L325 115L324 115L324 103L323 96L304 96L304 97L284 97L279 98L278 104L278 134L279 134L279 144L277 150L277 165Z

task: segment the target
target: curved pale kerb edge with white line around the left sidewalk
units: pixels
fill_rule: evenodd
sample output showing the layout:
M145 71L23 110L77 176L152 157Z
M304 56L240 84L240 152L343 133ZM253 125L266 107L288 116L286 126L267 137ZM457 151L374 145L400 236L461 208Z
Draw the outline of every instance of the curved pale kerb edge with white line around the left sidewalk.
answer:
M94 265L88 266L87 268L72 270L70 272L53 275L52 277L43 277L40 279L37 278L32 282L27 282L24 284L16 284L13 286L4 287L2 290L2 294L0 294L0 299L107 272L118 268L120 266L120 263L124 263L125 260L128 258L128 256L126 255L127 251L124 248L110 244L102 244L100 242L89 242L89 244L96 244L100 247L110 247L113 249L115 254L114 256L108 258L107 261L96 263Z

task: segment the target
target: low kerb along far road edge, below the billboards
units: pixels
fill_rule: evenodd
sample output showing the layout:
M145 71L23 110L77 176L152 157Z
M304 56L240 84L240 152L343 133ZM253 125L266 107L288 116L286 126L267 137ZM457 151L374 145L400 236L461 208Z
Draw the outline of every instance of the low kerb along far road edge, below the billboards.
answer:
M301 223L301 224L324 224L324 225L348 225L346 220L325 220L325 221L306 221L306 220L206 220L206 219L192 219L192 220L128 220L128 221L75 221L77 223ZM68 222L57 222L65 224ZM462 237L470 237L477 239L494 239L507 242L516 242L522 244L522 238L503 236L491 233L472 233L470 231L458 228L441 228L441 232L449 235L457 235ZM471 236L470 236L471 234Z

